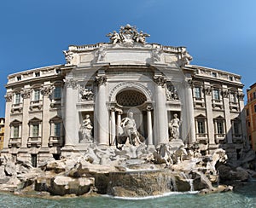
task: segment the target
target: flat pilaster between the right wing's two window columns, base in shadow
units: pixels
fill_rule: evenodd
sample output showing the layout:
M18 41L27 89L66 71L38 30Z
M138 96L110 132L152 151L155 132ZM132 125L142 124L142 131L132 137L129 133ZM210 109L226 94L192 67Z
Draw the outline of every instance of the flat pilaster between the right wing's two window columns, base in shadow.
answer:
M222 96L224 104L224 118L226 122L225 131L227 136L227 143L232 143L232 124L230 120L230 92L227 89L227 86L223 86Z

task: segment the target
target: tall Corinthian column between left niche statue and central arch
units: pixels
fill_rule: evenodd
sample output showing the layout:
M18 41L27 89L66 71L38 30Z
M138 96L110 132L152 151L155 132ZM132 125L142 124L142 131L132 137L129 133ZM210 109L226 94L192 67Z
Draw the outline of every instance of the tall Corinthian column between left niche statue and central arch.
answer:
M107 92L106 82L107 77L105 74L96 76L96 82L98 84L98 92L96 95L96 120L98 124L98 138L97 142L100 145L108 145L108 107L106 105Z

